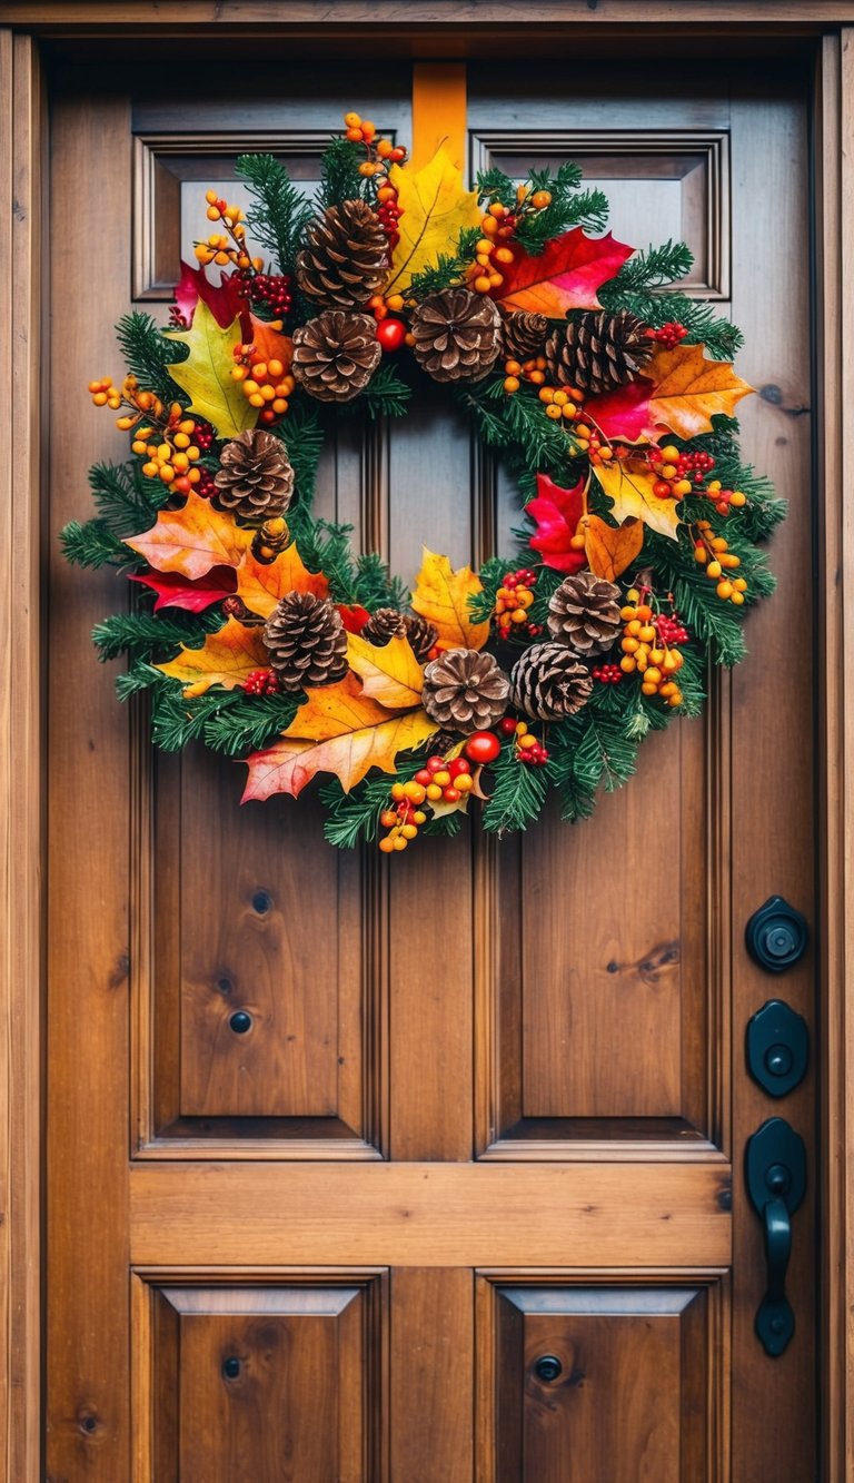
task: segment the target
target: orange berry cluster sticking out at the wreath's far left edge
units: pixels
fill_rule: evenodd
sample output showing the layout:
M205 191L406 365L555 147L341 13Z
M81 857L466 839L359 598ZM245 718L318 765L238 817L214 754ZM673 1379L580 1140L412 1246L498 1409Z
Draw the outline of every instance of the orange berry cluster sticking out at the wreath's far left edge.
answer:
M130 448L135 454L145 455L142 473L147 479L162 479L179 494L188 494L190 486L199 483L202 473L193 467L202 457L202 449L193 440L196 421L185 415L181 402L172 402L166 408L154 392L139 390L135 375L125 377L122 387L113 386L110 377L101 377L99 381L89 383L89 392L95 406L129 409L116 418L116 427L125 433L133 430Z

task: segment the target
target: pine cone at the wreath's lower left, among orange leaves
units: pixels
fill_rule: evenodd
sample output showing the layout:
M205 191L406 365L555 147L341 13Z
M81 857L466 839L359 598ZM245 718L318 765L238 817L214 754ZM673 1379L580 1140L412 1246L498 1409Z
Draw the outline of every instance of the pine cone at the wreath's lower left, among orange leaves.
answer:
M264 624L264 644L282 690L334 685L347 673L341 614L311 592L289 592Z

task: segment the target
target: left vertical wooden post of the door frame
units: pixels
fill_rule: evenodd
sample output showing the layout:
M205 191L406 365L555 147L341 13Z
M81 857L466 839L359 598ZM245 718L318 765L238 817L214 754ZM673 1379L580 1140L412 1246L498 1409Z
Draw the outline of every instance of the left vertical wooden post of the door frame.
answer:
M0 31L0 1396L9 1479L40 1477L43 1046L42 359L44 102L31 37Z

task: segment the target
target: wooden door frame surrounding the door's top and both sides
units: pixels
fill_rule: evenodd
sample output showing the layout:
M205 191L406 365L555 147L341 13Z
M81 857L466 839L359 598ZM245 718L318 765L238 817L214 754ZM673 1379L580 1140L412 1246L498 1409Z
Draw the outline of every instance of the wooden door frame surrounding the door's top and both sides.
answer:
M371 42L385 0L87 0L6 3L0 19L0 1476L37 1483L42 1471L42 1228L44 1084L44 492L43 280L46 87L43 39L129 40L165 33L230 42L273 31L289 40ZM854 0L550 0L517 19L516 0L411 3L385 30L402 58L519 52L572 36L593 44L639 36L712 43L729 55L758 39L798 37L815 50L814 362L820 693L818 758L823 1479L854 1476L854 693L844 685L854 633ZM847 145L847 147L845 147ZM848 308L845 314L842 310ZM821 704L823 701L823 704ZM851 1069L848 1069L851 1068Z

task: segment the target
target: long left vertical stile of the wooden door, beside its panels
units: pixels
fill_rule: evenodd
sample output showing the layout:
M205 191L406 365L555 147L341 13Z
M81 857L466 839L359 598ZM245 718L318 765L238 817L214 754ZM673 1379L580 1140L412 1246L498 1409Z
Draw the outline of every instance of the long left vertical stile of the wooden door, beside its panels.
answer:
M128 308L130 282L129 110L120 95L55 99L53 120L53 209L62 228L52 240L49 356L47 1471L116 1483L130 1476L128 715L116 704L113 673L98 672L89 651L93 623L116 605L116 577L71 569L56 532L80 515L86 467L125 448L119 433L110 446L79 389L107 369L116 378L113 323Z

